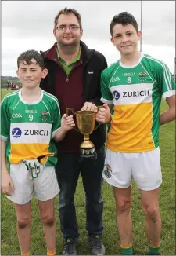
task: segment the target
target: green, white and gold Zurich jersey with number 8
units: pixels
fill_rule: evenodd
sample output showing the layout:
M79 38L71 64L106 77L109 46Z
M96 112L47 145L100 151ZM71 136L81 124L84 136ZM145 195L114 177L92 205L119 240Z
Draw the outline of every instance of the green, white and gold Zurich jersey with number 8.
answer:
M161 98L175 94L167 65L142 54L138 64L120 60L102 71L102 102L114 105L107 148L114 152L147 152L159 145Z

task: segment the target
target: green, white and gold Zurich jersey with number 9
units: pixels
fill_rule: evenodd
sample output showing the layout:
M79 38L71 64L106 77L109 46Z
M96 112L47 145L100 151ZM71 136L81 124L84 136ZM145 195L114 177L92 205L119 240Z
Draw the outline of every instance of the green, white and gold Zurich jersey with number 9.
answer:
M7 141L9 163L38 159L45 166L57 163L56 145L52 138L60 126L56 97L41 90L41 98L27 104L21 90L7 94L2 101L1 139Z

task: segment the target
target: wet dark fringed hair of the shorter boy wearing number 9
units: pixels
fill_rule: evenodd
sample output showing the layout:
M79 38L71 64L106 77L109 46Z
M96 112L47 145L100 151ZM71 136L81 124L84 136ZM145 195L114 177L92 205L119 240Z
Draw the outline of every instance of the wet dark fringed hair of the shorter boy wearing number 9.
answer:
M26 52L20 54L20 56L17 58L18 68L20 62L23 62L23 64L27 63L27 65L32 64L32 59L36 60L36 64L38 64L42 70L45 68L43 57L34 49L27 50Z

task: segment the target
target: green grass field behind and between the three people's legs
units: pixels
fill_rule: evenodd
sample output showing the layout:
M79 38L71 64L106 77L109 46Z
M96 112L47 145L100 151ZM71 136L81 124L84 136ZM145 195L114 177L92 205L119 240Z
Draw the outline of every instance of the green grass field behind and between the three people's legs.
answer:
M2 97L7 91L2 90ZM165 101L162 101L161 112L167 108ZM3 125L3 124L2 124ZM175 255L175 122L168 123L160 128L160 155L163 172L163 184L160 189L160 212L163 221L163 230L161 236L162 255ZM115 204L113 199L113 190L106 182L103 184L102 196L104 199L104 233L103 243L106 247L106 255L119 255L120 244L117 235L115 221ZM144 255L147 250L147 241L145 236L144 215L140 207L140 196L138 188L133 183L133 247L134 254ZM57 242L56 253L62 254L63 241L60 232L59 217L57 212L56 198L56 221L57 221ZM77 210L77 221L80 231L80 240L78 243L78 252L80 255L90 255L87 243L87 233L85 231L85 210L84 210L84 189L81 178L78 181L75 194L75 205ZM31 236L31 254L44 255L46 252L45 239L42 232L42 225L38 212L38 201L32 200L32 236ZM12 203L2 195L2 255L20 254L20 247L16 236L16 215Z

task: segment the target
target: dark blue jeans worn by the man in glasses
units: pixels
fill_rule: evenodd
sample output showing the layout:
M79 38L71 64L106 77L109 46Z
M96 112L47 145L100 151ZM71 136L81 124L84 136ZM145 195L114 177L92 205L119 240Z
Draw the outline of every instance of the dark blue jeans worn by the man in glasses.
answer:
M78 154L62 154L56 165L59 182L59 218L63 239L79 237L74 206L74 193L81 174L86 197L86 229L89 235L102 235L102 169L104 147L97 151L96 160L80 161Z

